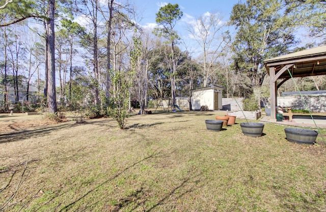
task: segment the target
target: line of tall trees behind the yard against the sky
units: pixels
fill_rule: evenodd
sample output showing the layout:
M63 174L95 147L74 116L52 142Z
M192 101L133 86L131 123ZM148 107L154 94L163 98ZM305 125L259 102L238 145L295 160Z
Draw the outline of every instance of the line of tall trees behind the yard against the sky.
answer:
M188 45L176 30L183 16L177 4L161 7L150 30L138 23L134 6L0 0L5 101L9 85L18 100L19 83L29 89L33 79L44 87L51 113L57 112L56 89L60 102L98 111L111 105L115 115L130 101L139 102L142 112L149 98L187 97L190 103L192 89L210 84L226 87L225 97L249 97L257 88L269 96L264 59L326 44L324 0L247 0L233 6L229 21L206 13L185 28ZM304 32L310 42L302 46ZM324 76L296 80L305 90L326 89ZM293 90L291 83L279 91Z

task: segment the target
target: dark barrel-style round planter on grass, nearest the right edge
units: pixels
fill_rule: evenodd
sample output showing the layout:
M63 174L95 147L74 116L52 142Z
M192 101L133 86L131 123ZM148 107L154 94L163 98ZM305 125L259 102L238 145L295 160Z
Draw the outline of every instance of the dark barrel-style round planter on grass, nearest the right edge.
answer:
M313 144L316 141L318 132L302 128L285 128L286 139L296 143Z

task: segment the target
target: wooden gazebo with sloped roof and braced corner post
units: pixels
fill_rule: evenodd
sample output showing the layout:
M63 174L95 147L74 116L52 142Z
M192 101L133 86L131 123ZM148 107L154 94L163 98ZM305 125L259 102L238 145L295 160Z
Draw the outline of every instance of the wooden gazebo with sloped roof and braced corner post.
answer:
M292 77L326 75L326 46L264 60L269 75L270 119L276 122L277 89ZM289 74L288 70L291 74Z

